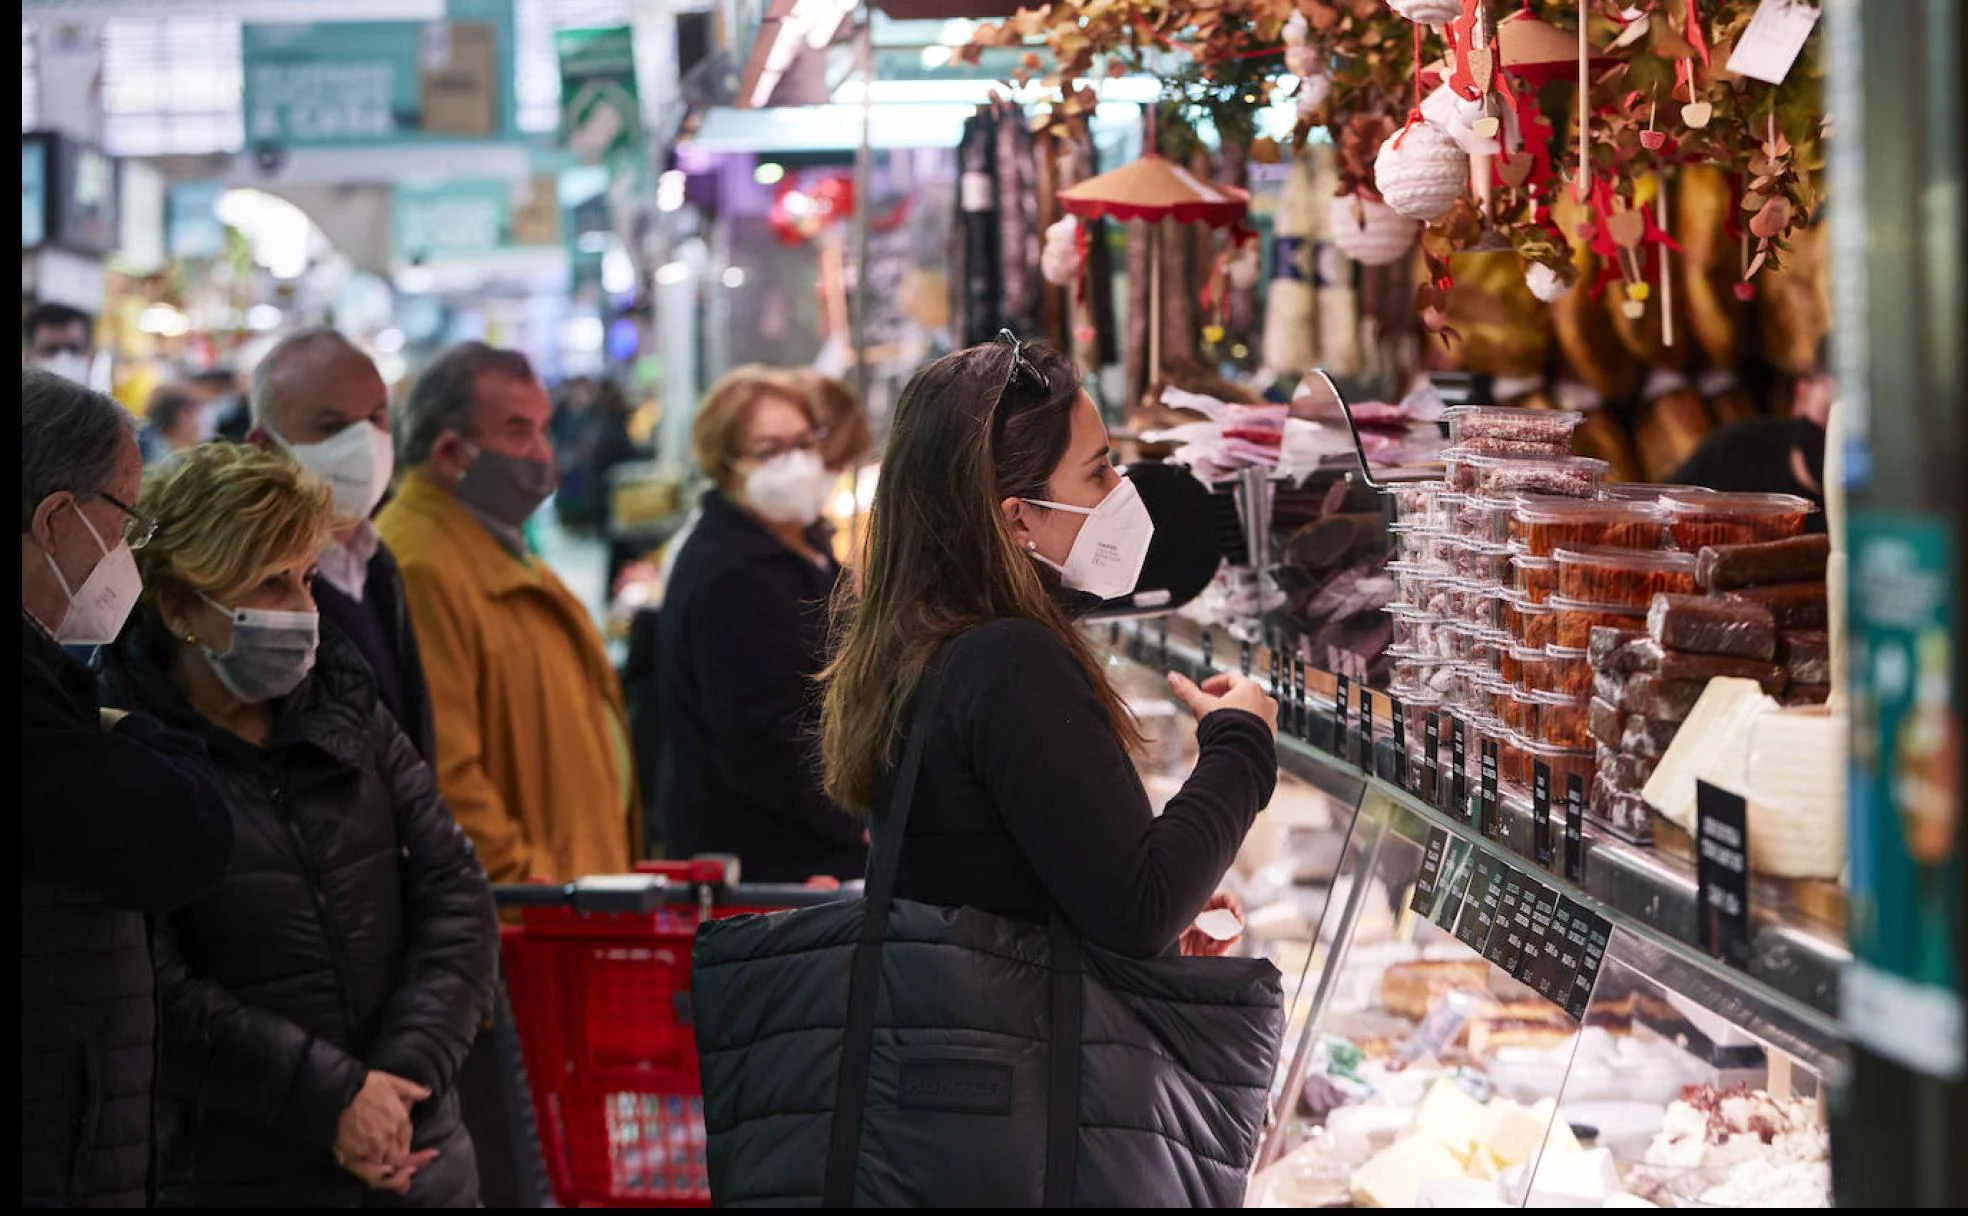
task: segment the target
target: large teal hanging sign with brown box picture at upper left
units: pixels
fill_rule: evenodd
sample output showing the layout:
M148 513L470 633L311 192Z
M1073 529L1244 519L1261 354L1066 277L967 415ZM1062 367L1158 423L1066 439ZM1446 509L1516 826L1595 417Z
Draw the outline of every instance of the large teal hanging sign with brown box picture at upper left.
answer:
M242 26L248 148L518 136L512 2L449 0L445 14Z

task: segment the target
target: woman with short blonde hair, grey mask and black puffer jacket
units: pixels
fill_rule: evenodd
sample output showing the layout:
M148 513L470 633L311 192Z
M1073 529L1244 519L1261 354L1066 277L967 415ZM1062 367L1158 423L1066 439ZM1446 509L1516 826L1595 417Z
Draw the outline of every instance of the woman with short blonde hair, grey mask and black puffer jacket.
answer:
M309 584L335 523L285 455L213 445L142 498L104 702L205 740L232 872L157 923L159 1202L474 1204L453 1078L498 925L431 769Z

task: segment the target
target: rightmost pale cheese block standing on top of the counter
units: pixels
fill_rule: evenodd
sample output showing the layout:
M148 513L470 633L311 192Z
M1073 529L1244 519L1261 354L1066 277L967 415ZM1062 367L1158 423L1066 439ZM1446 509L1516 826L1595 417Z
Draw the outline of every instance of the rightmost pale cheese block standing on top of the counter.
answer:
M1838 878L1846 862L1846 720L1822 710L1759 714L1750 726L1750 868Z

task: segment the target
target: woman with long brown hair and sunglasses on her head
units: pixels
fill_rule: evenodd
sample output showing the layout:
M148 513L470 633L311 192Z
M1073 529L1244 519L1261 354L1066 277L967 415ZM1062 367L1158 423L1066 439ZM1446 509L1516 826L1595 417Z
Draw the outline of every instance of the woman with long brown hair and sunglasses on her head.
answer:
M1240 675L1171 675L1200 756L1155 817L1139 730L1065 606L1128 594L1151 533L1057 350L972 346L903 390L821 718L827 793L866 813L937 681L897 899L1035 923L1057 907L1138 958L1228 948L1187 927L1228 903L1212 891L1271 797L1277 704Z

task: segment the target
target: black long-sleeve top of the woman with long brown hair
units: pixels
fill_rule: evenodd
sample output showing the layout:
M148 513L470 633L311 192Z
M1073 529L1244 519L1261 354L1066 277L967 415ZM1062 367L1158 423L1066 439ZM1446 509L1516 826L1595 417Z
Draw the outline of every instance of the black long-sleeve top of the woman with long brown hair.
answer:
M1173 946L1271 801L1271 730L1242 710L1202 718L1197 767L1157 817L1092 683L1045 626L970 630L941 669L895 897L1025 921L1057 901L1098 946L1139 958Z

